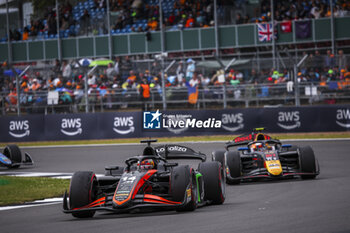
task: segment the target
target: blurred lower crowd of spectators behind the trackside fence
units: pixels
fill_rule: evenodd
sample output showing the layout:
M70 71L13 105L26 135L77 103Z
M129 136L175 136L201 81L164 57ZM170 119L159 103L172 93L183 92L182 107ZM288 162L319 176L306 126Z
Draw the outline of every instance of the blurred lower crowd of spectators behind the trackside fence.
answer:
M299 70L298 82L312 83L315 86L325 86L332 89L350 88L349 60L338 50L335 56L331 50L326 55L320 55L318 51L310 53ZM137 92L140 100L150 98L150 92L156 93L158 97L162 95L162 74L161 66L158 62L153 62L151 69L140 70L132 62L129 56L116 57L107 66L100 67L99 72L85 75L75 64L57 60L51 70L49 77L44 77L43 73L36 72L24 75L20 79L20 103L21 106L46 105L47 93L59 93L59 103L68 105L71 103L85 103L85 83L89 94L90 103L113 102L112 98L125 99L130 92ZM6 64L0 70L0 92L5 98L5 105L8 110L17 104L16 79L11 74L6 76ZM176 70L165 74L165 87L188 89L191 94L198 94L198 89L206 89L210 86L222 86L235 88L241 84L271 86L277 84L293 83L294 77L287 69L269 70L262 69L259 72L252 69L246 70L229 69L217 70L211 73L202 73L196 68L196 61L187 59L177 62ZM87 79L87 80L85 80ZM293 85L293 84L291 84ZM39 93L45 92L44 97ZM186 97L184 97L186 98ZM195 100L196 100L195 96ZM188 99L191 102L191 99ZM195 101L196 102L196 101Z

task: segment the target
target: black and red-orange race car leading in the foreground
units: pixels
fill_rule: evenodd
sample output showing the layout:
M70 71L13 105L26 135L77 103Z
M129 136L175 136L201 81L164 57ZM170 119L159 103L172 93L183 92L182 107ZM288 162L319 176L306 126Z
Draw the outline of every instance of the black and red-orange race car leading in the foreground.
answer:
M193 211L225 201L225 175L221 163L205 162L206 155L181 146L151 147L157 140L144 140L143 153L125 161L126 167L106 167L105 176L93 172L74 173L63 212L77 218L96 211L115 213L142 209ZM171 163L173 159L200 160L198 169Z

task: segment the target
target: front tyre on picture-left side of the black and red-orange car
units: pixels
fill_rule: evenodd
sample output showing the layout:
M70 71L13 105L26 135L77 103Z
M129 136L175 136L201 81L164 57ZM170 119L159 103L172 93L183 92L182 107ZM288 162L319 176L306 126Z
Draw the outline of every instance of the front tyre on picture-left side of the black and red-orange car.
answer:
M70 209L84 207L97 199L96 175L90 171L75 172L72 176L69 188ZM91 218L95 211L81 211L72 213L76 218Z

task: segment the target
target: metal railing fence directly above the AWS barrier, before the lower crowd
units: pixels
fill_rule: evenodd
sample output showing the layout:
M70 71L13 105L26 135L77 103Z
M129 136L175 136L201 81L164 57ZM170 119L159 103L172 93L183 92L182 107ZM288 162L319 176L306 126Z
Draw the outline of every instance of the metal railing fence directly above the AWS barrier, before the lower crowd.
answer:
M278 107L294 106L295 95L290 83L245 84L237 86L204 86L198 89L195 104L188 101L188 90L183 87L166 89L168 109L223 109L235 107ZM350 102L350 84L329 82L327 85L301 83L301 105L341 104ZM21 93L19 97L22 114L79 113L86 111L84 91L57 92L38 91ZM160 89L152 89L148 101L142 101L137 89L90 90L88 94L89 112L117 110L162 109ZM2 115L17 113L17 96L0 93Z

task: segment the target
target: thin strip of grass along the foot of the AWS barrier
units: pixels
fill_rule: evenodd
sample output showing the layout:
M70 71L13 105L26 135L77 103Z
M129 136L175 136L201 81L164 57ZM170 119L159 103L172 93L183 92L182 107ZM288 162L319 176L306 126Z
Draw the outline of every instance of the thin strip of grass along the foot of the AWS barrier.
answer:
M269 133L268 133L269 134ZM319 138L350 138L350 132L320 132L320 133L289 133L269 134L278 139L319 139ZM216 136L191 136L191 137L161 137L157 138L160 143L168 142L191 142L191 141L230 141L238 135L216 135ZM102 139L102 140L77 140L77 141L43 141L43 142L19 142L18 146L57 146L57 145L84 145L84 144L122 144L139 143L147 138L124 138L124 139ZM9 143L0 143L4 147Z

